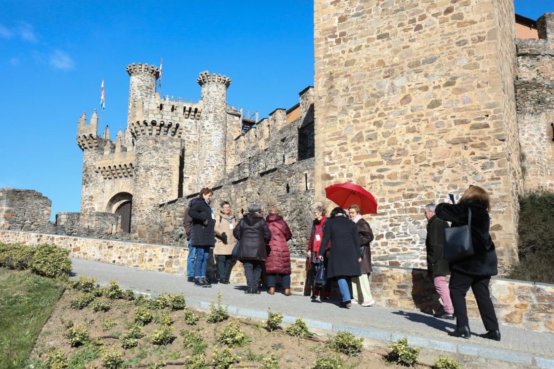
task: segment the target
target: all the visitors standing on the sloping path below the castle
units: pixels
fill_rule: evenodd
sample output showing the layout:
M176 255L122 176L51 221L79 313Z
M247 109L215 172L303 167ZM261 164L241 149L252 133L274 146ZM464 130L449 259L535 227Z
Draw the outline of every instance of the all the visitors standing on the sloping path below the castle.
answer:
M259 294L263 270L267 276L268 293L275 294L276 278L281 277L284 294L290 290L290 253L287 241L292 238L288 224L279 215L279 208L271 207L264 218L264 209L257 203L249 204L248 212L240 221L229 202L223 201L216 213L210 206L213 191L202 188L198 197L188 203L184 228L189 239L187 260L188 281L198 287L211 287L206 276L210 248L217 255L219 283L228 284L233 255L243 263L249 295ZM471 212L469 212L471 209ZM500 331L494 306L489 295L490 277L496 275L497 258L490 237L490 198L485 189L470 186L457 204L428 204L424 213L428 219L427 264L430 278L443 300L443 311L435 314L442 319L456 319L456 330L450 335L470 337L465 295L473 290L481 319L488 331L486 338L500 340ZM471 213L471 238L474 254L455 263L443 257L443 232L468 224ZM330 284L318 286L315 270L323 265L326 276L335 279L341 294L340 307L352 304L371 306L371 247L373 232L362 218L358 204L348 209L336 207L326 216L323 206L314 209L306 259L306 285L311 287L312 299L329 299ZM446 276L450 274L450 284Z

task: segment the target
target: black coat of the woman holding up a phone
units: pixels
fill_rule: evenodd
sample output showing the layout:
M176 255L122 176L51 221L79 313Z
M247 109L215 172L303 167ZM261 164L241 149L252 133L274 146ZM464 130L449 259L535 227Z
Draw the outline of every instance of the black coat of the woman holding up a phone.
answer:
M456 263L450 263L451 271L470 275L498 274L498 259L490 237L490 217L485 204L464 201L458 204L438 204L435 214L443 221L452 222L451 227L468 224L468 207L471 207L471 240L474 254Z

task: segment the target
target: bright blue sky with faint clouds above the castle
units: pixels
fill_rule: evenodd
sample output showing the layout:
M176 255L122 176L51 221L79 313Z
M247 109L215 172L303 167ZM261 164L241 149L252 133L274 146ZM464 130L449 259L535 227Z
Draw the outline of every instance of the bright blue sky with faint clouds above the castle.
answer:
M552 0L516 0L536 19ZM56 212L78 212L79 115L125 128L130 63L159 65L162 93L198 99L198 73L230 76L229 104L260 117L314 83L313 2L3 0L0 12L0 187L36 189ZM99 134L104 127L99 129Z

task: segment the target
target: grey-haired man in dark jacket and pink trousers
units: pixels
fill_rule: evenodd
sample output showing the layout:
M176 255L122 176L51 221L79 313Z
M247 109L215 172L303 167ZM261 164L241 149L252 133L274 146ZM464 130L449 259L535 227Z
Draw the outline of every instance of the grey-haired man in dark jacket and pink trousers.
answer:
M447 260L443 257L444 228L449 228L449 225L435 215L435 204L425 206L425 218L427 218L427 238L425 238L427 271L444 305L444 310L434 316L454 320L454 307L446 283L446 275L450 274L450 269Z

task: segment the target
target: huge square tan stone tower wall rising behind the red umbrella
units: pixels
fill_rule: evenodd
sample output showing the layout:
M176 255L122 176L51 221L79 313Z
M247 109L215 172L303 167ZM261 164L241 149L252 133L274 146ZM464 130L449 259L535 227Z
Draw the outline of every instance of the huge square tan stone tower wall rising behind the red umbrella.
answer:
M316 0L316 201L348 180L375 195L375 261L425 265L423 206L478 184L492 194L501 270L516 262L510 7Z

